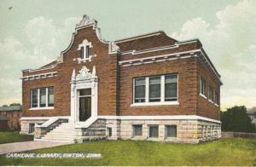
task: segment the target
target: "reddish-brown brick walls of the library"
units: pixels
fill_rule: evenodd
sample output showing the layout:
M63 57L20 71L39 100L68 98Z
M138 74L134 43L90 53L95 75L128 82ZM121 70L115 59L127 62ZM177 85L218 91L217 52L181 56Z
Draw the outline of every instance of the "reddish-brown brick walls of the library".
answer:
M79 64L80 51L78 46L87 39L92 43L90 62ZM201 43L188 43L180 45L177 49L168 49L150 52L142 55L108 55L108 43L102 43L92 27L79 30L73 39L70 49L63 55L63 62L54 69L42 72L55 72L57 77L30 80L22 82L23 112L25 117L40 116L66 116L70 115L70 81L73 68L76 75L82 66L92 70L96 66L98 83L98 115L191 115L198 114L208 118L218 118L218 107L208 104L198 95L198 78L202 74L207 81L212 82L212 75L207 68L198 64L198 58L188 58L158 62L140 66L118 66L119 60L137 59L153 55L165 55L200 49ZM32 75L38 72L23 72L23 75ZM131 107L132 103L132 78L178 73L178 102L177 106L158 107ZM29 110L30 89L53 86L55 88L55 109ZM217 87L217 86L216 86ZM213 87L214 89L215 87Z

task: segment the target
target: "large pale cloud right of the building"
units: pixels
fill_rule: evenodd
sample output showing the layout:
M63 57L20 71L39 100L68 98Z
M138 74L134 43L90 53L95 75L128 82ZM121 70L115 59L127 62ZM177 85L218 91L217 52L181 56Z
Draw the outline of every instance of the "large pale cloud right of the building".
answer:
M217 24L194 18L186 21L178 40L200 38L213 64L222 75L223 107L256 106L256 1L243 0L216 13Z

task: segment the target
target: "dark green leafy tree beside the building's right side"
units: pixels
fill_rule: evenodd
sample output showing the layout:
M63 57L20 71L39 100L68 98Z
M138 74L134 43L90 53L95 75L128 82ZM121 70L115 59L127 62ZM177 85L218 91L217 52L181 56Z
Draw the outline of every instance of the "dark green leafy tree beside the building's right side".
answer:
M256 132L255 126L247 116L247 108L231 107L220 113L221 129L234 132Z

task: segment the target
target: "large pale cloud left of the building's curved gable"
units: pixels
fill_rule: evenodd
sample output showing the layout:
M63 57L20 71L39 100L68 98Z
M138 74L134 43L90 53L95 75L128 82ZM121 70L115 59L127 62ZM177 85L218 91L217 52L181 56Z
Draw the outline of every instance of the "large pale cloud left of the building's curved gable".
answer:
M67 48L74 25L79 20L68 17L61 21L61 25L42 16L29 20L25 32L30 47L15 37L0 40L0 66L3 69L0 71L0 106L21 102L21 70L38 68L55 60L61 49Z

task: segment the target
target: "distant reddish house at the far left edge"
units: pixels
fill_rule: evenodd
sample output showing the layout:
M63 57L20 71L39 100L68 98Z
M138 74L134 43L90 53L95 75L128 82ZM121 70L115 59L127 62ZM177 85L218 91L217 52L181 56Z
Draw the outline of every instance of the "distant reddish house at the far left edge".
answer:
M21 106L0 107L0 131L20 130Z

